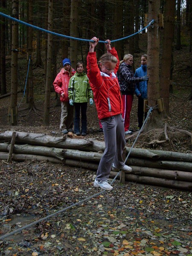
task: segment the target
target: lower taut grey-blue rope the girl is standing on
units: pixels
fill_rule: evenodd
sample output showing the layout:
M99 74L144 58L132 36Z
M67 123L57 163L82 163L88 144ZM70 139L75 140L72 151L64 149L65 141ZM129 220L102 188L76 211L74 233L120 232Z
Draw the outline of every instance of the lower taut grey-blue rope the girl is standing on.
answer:
M156 106L155 106L155 107L156 107ZM133 143L133 145L132 145L132 147L131 147L131 149L130 149L130 151L129 151L129 153L128 153L128 156L126 157L126 159L125 159L125 161L124 161L124 163L126 163L126 160L128 159L128 157L129 157L129 155L130 155L130 153L131 153L131 150L132 150L132 148L134 147L134 144L136 143L137 138L139 137L139 135L140 135L140 133L141 133L141 131L142 131L142 129L143 129L143 126L144 126L145 123L147 122L148 117L149 117L151 111L152 111L153 108L155 108L155 107L149 108L149 111L148 111L148 113L147 113L146 119L145 119L145 121L143 122L143 125L142 125L142 127L141 127L139 133L137 134L137 137L136 137L136 139L135 139L135 141L134 141L134 143ZM121 170L116 174L116 176L113 178L113 180L111 181L110 184L113 184L113 182L116 180L116 178L118 177L118 175L119 175L120 173L121 173ZM3 235L3 236L0 236L0 239L3 240L3 239L5 239L5 238L8 237L8 236L14 235L15 233L18 233L18 232L20 232L21 230L24 230L24 229L26 229L26 228L28 228L28 227L32 227L33 225L38 224L38 223L41 222L41 221L45 221L45 220L47 220L48 218L51 218L51 217L53 217L53 216L55 216L55 215L58 215L58 214L61 213L61 212L65 212L66 210L68 210L68 209L70 209L70 208L72 208L72 207L74 207L74 206L76 206L76 205L79 205L79 204L81 204L81 203L83 203L83 202L86 202L86 201L88 201L89 199L94 198L94 197L96 197L96 196L98 196L98 195L104 194L105 192L106 192L106 190L102 190L102 191L100 191L99 193L96 193L96 194L94 194L94 195L92 195L92 196L90 196L90 197L88 197L88 198L85 198L85 199L83 199L83 200L81 200L81 201L79 201L79 202L77 202L77 203L75 203L75 204L72 204L72 205L67 206L67 207L65 207L65 208L63 208L63 209L61 209L61 210L59 210L59 211L57 211L57 212L54 212L54 213L52 213L52 214L50 214L50 215L47 215L47 216L45 216L44 218L39 219L38 221L33 221L32 223L29 223L28 225L26 225L26 226L24 226L24 227L20 227L20 228L18 228L17 230L14 230L14 231L12 231L12 232L10 232L10 233L7 233L7 234L5 234L5 235Z

